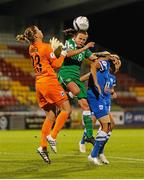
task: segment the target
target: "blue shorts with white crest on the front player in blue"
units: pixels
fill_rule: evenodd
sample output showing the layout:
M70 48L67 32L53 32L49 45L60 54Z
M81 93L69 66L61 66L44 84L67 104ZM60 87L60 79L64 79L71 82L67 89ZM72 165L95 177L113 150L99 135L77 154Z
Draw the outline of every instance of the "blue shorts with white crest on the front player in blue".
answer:
M87 100L91 111L94 113L97 119L108 115L108 109L104 98L99 95L98 98L93 94L92 90L87 91Z

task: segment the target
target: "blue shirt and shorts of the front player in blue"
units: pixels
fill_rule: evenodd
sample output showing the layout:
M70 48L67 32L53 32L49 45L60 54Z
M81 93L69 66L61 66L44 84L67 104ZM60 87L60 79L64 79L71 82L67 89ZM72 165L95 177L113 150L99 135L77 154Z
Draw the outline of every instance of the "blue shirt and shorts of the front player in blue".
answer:
M94 115L97 119L108 115L108 109L106 107L105 102L105 85L109 80L109 61L99 61L101 68L96 72L98 84L101 88L101 94L99 94L97 88L95 87L93 77L90 75L88 82L88 91L87 91L87 99L91 111L94 112Z

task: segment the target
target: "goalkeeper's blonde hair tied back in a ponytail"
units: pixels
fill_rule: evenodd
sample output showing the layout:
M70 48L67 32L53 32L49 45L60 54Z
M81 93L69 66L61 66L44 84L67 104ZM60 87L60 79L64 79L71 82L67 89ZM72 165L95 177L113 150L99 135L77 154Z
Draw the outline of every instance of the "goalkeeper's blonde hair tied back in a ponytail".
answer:
M30 26L25 31L24 34L19 34L16 36L16 40L20 42L33 43L35 41L36 26Z

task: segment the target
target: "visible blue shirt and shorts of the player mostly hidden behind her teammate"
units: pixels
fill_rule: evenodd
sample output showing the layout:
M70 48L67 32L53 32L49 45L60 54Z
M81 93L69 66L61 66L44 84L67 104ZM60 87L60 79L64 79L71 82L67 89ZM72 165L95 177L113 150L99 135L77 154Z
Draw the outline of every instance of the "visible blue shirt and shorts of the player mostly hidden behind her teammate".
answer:
M116 77L109 72L108 79L105 84L105 101L106 101L106 106L109 111L111 109L111 89L114 86L116 86Z

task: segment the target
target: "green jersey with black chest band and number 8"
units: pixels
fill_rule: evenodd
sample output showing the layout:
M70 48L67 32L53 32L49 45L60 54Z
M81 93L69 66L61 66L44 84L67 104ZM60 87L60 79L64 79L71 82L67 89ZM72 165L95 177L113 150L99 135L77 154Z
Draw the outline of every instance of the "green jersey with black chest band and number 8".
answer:
M77 50L78 47L74 41L74 39L69 39L66 41L66 47L68 50ZM75 56L66 57L63 65L60 69L60 74L65 73L69 77L75 76L80 78L80 67L84 59L89 58L92 55L92 52L87 49Z

